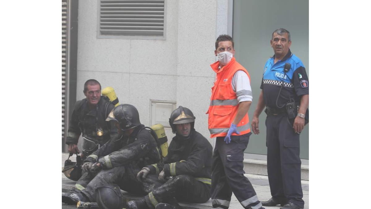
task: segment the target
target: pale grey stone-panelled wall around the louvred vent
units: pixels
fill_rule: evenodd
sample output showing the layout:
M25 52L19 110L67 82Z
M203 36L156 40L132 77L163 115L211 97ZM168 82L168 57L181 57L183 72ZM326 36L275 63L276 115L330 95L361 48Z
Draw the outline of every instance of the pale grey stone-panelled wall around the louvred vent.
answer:
M120 103L137 107L150 125L150 100L190 108L196 130L209 139L207 115L214 42L227 33L227 0L166 1L166 40L97 38L98 1L79 1L77 99L93 78L115 89ZM218 31L218 32L217 32ZM168 139L174 136L165 129Z

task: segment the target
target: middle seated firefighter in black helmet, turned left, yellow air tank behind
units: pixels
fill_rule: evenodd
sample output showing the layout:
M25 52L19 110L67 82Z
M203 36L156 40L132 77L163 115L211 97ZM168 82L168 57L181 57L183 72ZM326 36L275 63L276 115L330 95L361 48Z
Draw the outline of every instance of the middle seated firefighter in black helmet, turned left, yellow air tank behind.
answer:
M135 194L148 192L136 175L143 166L160 160L155 139L141 124L138 110L132 105L115 107L106 120L118 128L118 135L86 158L82 177L70 192L62 193L62 202L96 202L95 190L106 184L118 184Z

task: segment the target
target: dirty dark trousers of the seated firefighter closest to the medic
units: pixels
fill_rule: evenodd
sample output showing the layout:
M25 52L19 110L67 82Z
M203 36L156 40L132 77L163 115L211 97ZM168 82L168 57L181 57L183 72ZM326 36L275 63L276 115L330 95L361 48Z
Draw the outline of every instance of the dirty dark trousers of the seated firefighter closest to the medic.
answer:
M156 175L148 175L147 178L149 176ZM172 204L174 197L179 202L204 203L210 199L210 184L190 175L174 176L145 196L145 202L150 208L155 208L161 202Z

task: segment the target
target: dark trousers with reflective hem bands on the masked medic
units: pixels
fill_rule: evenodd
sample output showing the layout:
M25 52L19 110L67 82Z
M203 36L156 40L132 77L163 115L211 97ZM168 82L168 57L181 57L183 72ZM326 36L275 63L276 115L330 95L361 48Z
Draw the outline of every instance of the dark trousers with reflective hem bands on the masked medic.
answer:
M256 192L243 174L243 151L249 143L251 132L231 136L226 144L224 136L216 138L211 174L211 202L213 208L228 209L232 192L246 209L262 208Z

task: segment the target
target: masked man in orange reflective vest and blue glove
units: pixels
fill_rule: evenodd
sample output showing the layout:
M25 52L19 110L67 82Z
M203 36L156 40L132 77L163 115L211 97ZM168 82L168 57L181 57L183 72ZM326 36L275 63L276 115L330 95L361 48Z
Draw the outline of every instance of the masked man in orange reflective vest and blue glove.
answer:
M216 138L211 173L213 208L229 208L232 192L243 208L264 209L249 179L242 174L243 151L251 135L247 111L252 102L250 75L234 55L233 39L220 35L211 64L216 79L209 106L209 131ZM224 141L223 141L224 139Z

